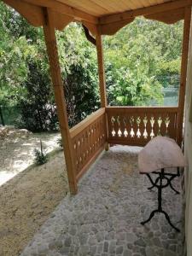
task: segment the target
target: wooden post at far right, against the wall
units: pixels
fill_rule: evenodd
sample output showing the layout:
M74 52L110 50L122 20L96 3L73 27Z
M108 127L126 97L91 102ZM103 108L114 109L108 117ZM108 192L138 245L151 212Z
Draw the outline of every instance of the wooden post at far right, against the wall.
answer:
M181 79L180 90L178 99L178 117L177 117L177 143L179 146L182 144L183 139L183 112L185 102L185 88L188 66L188 53L189 53L189 35L190 35L190 20L191 20L191 7L185 8L184 25L183 25L183 49L181 61Z

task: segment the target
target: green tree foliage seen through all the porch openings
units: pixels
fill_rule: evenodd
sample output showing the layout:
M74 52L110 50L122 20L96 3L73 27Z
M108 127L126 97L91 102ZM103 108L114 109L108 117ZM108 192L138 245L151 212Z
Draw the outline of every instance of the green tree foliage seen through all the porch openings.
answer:
M20 106L19 124L32 131L56 129L54 94L42 28L29 26L0 3L0 105ZM178 86L183 22L172 26L137 18L104 38L108 102L162 102L162 88ZM96 47L78 23L56 32L69 125L99 108Z

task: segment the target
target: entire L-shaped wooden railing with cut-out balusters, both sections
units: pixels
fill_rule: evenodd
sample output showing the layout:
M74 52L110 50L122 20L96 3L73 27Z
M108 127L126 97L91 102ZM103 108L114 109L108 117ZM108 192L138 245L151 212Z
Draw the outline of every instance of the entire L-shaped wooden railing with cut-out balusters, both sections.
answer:
M158 135L177 141L177 112L175 107L107 107L90 114L70 129L76 180L106 143L144 146Z

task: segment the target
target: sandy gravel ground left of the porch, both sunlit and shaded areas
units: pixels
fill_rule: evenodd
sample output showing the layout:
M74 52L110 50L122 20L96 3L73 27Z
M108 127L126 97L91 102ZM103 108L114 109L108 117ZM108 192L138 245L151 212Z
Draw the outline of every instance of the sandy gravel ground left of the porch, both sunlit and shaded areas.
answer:
M67 173L61 149L43 166L30 166L33 149L42 139L49 152L58 133L7 137L0 143L0 255L16 256L32 239L49 214L67 195ZM30 166L23 171L23 168ZM6 176L4 173L9 174ZM5 181L9 179L7 183Z

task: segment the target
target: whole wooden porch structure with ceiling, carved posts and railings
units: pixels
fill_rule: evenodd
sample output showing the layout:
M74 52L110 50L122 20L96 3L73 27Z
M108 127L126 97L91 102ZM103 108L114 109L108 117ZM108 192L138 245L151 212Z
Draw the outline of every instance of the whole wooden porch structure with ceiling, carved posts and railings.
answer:
M192 0L3 0L32 26L44 27L55 102L61 128L69 187L77 183L108 144L145 145L158 135L168 134L179 145L183 140L183 109L189 51ZM135 17L172 24L184 20L181 81L177 107L109 107L106 96L102 35L113 35ZM69 129L55 29L81 22L96 39L101 108Z

